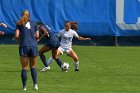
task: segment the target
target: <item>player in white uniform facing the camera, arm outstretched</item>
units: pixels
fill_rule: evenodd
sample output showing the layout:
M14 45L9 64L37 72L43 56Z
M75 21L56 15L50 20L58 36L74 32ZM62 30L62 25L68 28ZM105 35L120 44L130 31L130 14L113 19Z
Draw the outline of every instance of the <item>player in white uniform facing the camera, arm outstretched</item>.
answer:
M76 26L76 22L71 23L69 21L66 21L65 28L60 30L58 33L58 37L60 37L61 46L58 48L58 55L62 55L63 52L65 52L68 56L73 58L74 60L74 66L75 71L79 71L79 59L75 51L72 49L72 39L73 37L77 38L78 40L91 40L90 38L83 38L79 36L76 31L78 27ZM71 27L72 26L72 27ZM73 30L72 30L72 29ZM50 57L48 60L48 65L53 62L53 58Z

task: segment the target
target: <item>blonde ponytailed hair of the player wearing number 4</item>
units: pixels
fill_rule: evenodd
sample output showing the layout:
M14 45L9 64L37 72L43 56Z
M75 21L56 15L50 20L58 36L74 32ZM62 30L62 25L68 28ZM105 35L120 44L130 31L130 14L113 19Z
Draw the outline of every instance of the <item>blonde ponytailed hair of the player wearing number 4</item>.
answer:
M26 22L28 22L30 19L30 13L28 10L24 10L21 18L18 20L17 24L18 25L24 25Z

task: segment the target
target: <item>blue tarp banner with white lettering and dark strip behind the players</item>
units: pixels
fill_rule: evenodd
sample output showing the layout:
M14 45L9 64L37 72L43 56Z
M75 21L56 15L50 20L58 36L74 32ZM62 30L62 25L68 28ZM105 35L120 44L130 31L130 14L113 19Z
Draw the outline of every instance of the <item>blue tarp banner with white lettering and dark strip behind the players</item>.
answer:
M16 22L23 10L29 10L31 20L49 25L55 33L65 21L78 22L78 34L91 41L76 41L82 45L140 45L140 0L0 0L0 27L6 34L1 44L15 44Z

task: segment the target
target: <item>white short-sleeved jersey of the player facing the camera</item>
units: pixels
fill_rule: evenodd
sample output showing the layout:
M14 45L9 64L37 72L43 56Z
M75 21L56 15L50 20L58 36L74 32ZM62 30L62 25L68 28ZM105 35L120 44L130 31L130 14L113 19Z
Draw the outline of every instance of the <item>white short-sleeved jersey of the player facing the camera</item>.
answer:
M58 33L58 37L61 38L60 44L63 48L71 48L72 47L72 39L73 36L75 38L79 37L79 35L72 29L66 31L65 29L60 30Z

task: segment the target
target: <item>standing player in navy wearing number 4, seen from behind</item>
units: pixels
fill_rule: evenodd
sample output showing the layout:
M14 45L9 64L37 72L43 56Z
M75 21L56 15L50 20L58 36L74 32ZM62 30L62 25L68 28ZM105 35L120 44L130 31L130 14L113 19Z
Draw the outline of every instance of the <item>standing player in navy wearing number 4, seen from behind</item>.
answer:
M39 38L39 29L37 24L30 20L28 10L22 13L21 18L17 22L15 38L19 42L23 90L26 90L28 62L30 64L34 89L38 90L36 62L38 56L37 38Z

